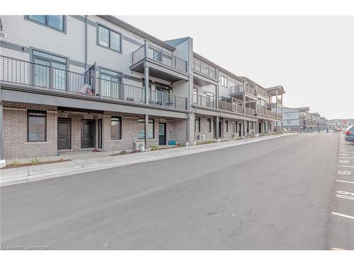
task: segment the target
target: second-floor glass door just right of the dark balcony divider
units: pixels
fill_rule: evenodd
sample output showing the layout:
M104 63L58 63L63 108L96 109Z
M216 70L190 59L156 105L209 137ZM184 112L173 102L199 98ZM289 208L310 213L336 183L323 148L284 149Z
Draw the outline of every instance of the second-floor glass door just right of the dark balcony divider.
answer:
M122 99L122 75L101 69L101 91L105 98Z

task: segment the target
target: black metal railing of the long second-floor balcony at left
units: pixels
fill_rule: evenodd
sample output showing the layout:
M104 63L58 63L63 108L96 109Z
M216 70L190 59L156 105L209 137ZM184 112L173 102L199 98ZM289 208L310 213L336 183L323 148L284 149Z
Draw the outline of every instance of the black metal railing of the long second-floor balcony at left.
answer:
M145 104L144 88L4 56L0 56L0 81L48 92L57 91L73 98L79 95ZM187 98L162 94L150 94L156 102L154 105L187 110Z

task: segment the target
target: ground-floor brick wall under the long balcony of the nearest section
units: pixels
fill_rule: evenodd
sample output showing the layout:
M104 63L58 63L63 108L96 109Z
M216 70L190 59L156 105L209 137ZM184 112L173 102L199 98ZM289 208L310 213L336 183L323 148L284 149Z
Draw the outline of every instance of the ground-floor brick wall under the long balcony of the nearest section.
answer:
M4 104L4 158L35 158L55 156L59 152L83 151L81 148L81 123L83 119L92 119L95 124L95 146L98 147L98 119L102 119L102 151L127 151L134 148L134 143L144 142L139 139L142 124L138 119L143 115L132 115L118 112L79 113L61 112L55 106L35 105L20 102L3 102ZM47 113L47 139L43 142L27 141L28 110L44 110ZM122 139L111 137L111 117L121 117ZM57 150L57 120L68 119L71 124L71 149ZM159 146L159 122L166 124L166 144L170 140L185 144L187 134L186 119L149 117L154 119L154 139L149 139L149 147ZM143 126L144 127L144 126Z

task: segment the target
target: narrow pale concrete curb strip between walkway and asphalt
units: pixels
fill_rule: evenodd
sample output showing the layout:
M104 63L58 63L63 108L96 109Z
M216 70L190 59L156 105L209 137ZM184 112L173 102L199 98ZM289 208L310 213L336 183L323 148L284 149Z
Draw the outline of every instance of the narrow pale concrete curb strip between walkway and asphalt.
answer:
M291 135L295 135L295 134L282 134L282 135L273 136L273 137L269 137L269 138L265 138L265 139L256 138L255 140L252 140L252 141L246 139L242 142L235 142L233 145L230 145L230 146L212 146L210 148L204 148L201 150L186 151L183 153L173 153L173 154L169 154L169 155L161 155L161 156L152 157L152 158L142 158L142 159L131 160L131 161L127 161L127 162L111 163L111 164L105 164L105 165L95 165L92 167L78 168L78 169L74 169L74 170L61 170L61 171L57 171L57 172L49 172L49 173L44 173L44 174L13 177L13 178L0 180L0 187L5 187L5 186L13 185L13 184L21 184L21 183L26 183L26 182L34 182L34 181L38 181L38 180L42 180L42 179L52 179L52 178L56 178L56 177L64 177L64 176L85 173L85 172L92 172L92 171L97 171L97 170L104 170L104 169L113 168L113 167L122 167L125 165L134 165L134 164L145 163L145 162L149 162L149 161L164 160L164 159L168 159L168 158L177 158L177 157L184 156L184 155L193 155L195 153L204 153L207 151L215 151L215 150L230 148L230 147L234 147L234 146L243 146L248 143L257 143L260 141L267 141L267 140L277 139L280 137L291 136Z

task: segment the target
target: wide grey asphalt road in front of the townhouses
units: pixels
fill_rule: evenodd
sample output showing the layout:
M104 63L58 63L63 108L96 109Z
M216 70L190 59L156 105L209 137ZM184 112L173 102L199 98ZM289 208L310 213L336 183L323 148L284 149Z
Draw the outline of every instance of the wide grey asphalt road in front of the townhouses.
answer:
M354 216L341 141L301 134L2 187L1 245L354 249L354 219L333 214Z

